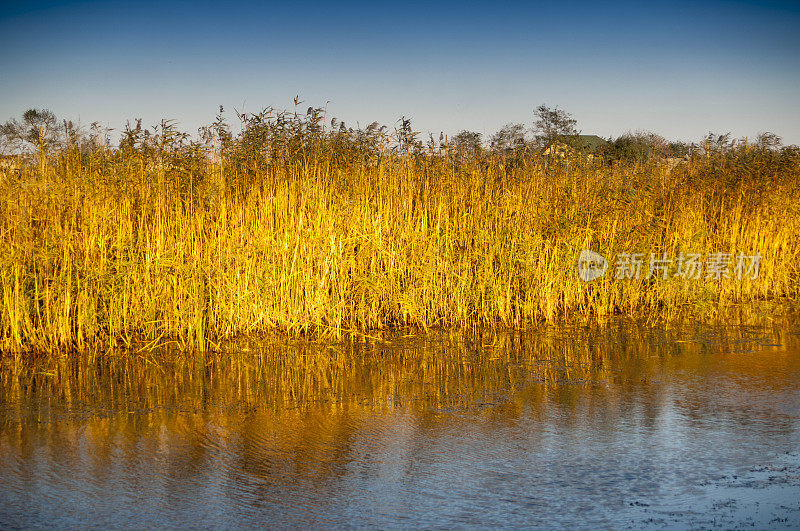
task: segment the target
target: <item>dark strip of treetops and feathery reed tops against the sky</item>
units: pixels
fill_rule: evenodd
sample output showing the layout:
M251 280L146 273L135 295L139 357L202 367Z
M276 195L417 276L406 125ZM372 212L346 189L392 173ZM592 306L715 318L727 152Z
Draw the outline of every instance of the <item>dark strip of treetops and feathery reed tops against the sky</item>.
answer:
M44 161L58 152L73 152L84 157L110 152L121 156L224 158L232 164L268 163L323 157L342 164L364 164L381 157L440 155L454 161L485 157L524 158L546 152L549 146L564 146L571 153L591 154L597 160L614 163L645 162L664 158L689 158L692 155L719 155L737 149L787 152L796 155L796 146L783 146L781 138L764 133L754 138L732 139L730 134L709 135L697 143L668 141L646 131L628 132L617 138L589 143L591 135L581 135L577 120L558 107L539 105L533 111L530 127L509 123L484 138L481 133L463 130L452 137L440 134L427 139L415 131L411 119L401 117L390 128L373 122L365 127L347 126L337 118L327 119L323 107L300 111L302 101L294 100L292 111L267 107L257 113L236 112L241 132L234 134L220 106L216 119L201 127L193 138L180 131L174 120L162 120L151 128L141 120L128 122L118 141L111 129L97 122L88 130L74 122L58 119L47 109L29 109L21 118L0 124L0 153L19 154L29 161ZM593 137L598 139L598 137Z

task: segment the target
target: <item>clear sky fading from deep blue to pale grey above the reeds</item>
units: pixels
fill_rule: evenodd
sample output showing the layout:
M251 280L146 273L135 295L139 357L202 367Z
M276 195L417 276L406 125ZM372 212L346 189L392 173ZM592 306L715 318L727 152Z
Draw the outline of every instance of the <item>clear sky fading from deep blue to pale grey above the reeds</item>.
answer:
M558 105L584 133L800 144L797 2L18 2L0 7L0 121L122 128L224 105L490 134Z

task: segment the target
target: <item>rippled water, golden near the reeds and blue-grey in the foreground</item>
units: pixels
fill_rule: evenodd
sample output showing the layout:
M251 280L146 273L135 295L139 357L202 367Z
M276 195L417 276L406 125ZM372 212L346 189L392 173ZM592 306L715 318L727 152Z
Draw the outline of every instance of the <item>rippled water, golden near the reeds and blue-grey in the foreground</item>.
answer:
M6 358L0 527L796 528L795 322Z

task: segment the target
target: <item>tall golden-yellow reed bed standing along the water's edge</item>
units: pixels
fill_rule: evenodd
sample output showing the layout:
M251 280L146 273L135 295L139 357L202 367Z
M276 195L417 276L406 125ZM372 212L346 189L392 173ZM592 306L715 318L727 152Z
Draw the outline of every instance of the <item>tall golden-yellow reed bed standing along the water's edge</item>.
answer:
M708 318L798 295L791 149L671 168L453 153L408 137L390 146L372 126L281 120L251 117L236 137L217 124L216 143L202 145L169 124L153 137L128 130L118 148L65 146L5 174L0 349ZM578 277L583 249L612 261L604 277ZM640 278L617 279L623 252L762 260L757 278L737 278L735 263L730 278L647 278L645 262Z

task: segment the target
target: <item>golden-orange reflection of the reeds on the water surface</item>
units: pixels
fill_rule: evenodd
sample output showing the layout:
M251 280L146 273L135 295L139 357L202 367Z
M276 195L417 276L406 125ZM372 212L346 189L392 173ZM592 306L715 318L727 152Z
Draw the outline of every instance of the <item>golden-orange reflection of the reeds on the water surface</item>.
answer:
M658 328L618 320L517 334L272 340L203 357L6 359L0 445L24 448L35 436L77 447L80 439L102 461L112 443L144 433L162 446L178 437L220 448L236 434L275 452L311 442L328 452L367 417L397 410L431 422L459 411L513 421L522 408L545 416L551 407L620 416L634 390L648 397L643 407L658 408L663 375L698 377L724 367L747 385L779 385L777 369L797 364L797 341L777 325Z

